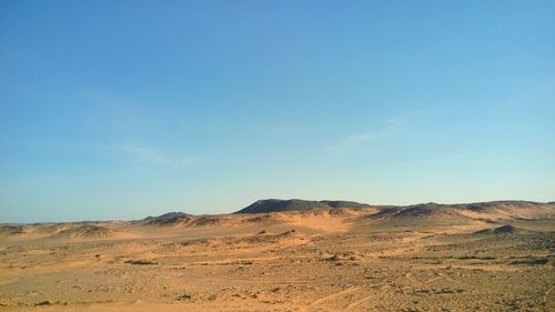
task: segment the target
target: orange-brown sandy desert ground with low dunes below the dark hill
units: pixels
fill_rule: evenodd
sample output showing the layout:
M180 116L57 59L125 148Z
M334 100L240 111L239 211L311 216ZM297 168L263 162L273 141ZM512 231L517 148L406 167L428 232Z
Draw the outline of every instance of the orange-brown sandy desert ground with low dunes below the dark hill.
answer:
M555 204L3 224L0 311L555 311Z

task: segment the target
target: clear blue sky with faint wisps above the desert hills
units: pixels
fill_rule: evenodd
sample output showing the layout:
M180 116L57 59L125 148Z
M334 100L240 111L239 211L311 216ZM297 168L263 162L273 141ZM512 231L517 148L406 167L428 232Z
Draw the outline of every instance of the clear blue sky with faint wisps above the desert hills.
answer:
M555 1L0 1L0 223L555 201Z

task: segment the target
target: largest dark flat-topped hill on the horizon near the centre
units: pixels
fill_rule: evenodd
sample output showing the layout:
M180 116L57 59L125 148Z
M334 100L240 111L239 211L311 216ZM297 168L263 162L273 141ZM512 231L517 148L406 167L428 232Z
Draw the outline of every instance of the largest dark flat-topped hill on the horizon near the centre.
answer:
M268 213L312 209L365 208L365 203L352 201L259 200L235 213Z

